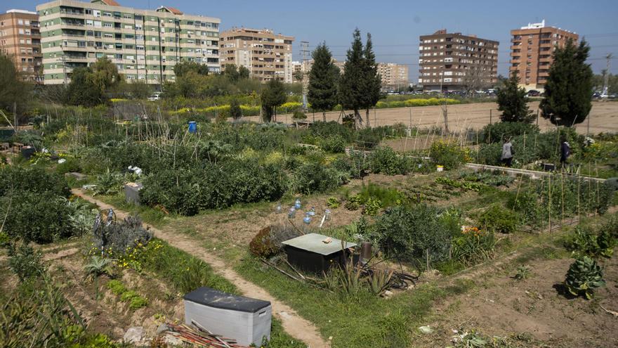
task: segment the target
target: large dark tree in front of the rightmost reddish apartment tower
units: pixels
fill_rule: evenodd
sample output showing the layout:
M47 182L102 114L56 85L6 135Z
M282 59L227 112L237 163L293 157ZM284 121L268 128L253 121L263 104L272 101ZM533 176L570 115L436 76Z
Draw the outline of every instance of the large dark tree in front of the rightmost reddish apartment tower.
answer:
M586 41L575 46L572 39L563 48L555 48L545 98L539 106L551 123L571 127L586 120L592 108L593 74L586 64L589 51Z

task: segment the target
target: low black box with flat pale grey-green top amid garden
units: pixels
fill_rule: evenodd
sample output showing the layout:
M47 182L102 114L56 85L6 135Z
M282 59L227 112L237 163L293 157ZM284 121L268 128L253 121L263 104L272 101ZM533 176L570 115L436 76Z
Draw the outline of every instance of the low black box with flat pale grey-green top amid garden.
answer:
M322 273L337 264L344 266L355 243L343 242L318 233L308 233L282 242L287 261L304 271Z

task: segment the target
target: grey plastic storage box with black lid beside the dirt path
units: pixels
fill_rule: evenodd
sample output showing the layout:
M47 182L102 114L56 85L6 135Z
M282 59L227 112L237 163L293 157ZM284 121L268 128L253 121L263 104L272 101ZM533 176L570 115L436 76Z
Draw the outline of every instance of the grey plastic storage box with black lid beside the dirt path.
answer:
M272 307L261 299L235 296L211 288L199 288L184 297L185 323L195 321L211 333L232 338L238 344L260 347L270 340Z

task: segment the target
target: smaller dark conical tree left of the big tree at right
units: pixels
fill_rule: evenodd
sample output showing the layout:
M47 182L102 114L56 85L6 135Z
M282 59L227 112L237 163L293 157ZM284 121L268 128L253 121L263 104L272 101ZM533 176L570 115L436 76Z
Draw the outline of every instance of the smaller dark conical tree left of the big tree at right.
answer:
M528 108L526 90L518 86L519 77L517 70L513 75L504 80L498 89L498 110L502 112L502 122L532 122L534 117Z

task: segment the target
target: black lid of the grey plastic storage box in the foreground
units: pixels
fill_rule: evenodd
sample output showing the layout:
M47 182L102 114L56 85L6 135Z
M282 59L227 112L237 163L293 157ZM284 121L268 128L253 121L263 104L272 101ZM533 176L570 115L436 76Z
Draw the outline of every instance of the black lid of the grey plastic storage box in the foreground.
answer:
M227 292L221 292L211 288L198 288L189 292L184 297L185 300L204 304L204 306L231 309L234 311L246 311L249 313L255 313L260 309L264 309L270 306L270 302L263 301L261 299L252 299L244 296L236 296L228 294Z

